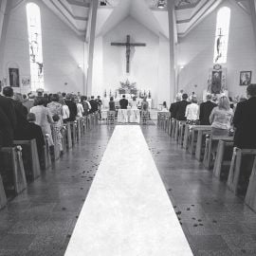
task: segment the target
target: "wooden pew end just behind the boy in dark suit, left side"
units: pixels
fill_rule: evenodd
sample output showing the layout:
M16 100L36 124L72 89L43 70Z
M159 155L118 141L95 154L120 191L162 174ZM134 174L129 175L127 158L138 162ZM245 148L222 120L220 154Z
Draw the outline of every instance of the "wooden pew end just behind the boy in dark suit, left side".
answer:
M41 174L35 138L31 140L14 140L14 145L22 147L22 158L27 180L35 180Z

